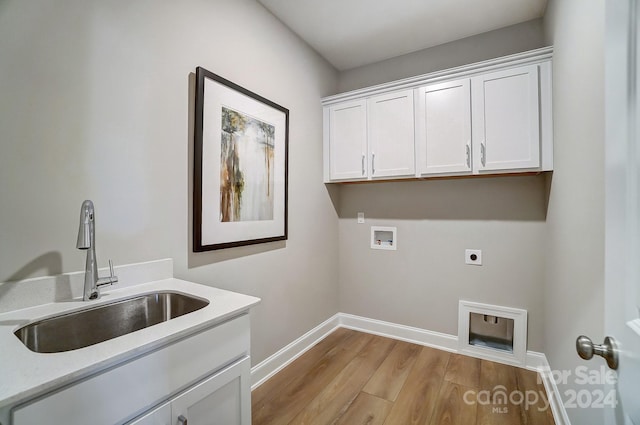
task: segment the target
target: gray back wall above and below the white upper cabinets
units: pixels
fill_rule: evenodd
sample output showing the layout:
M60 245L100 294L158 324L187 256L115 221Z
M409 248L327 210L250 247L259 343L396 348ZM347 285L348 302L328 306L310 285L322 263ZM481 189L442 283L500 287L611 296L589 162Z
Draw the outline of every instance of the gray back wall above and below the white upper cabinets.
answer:
M545 46L541 20L340 74L341 89ZM340 187L340 310L457 335L458 300L524 308L542 351L544 176ZM357 224L357 212L367 221ZM372 250L370 226L397 226L398 250ZM464 264L482 249L481 267Z

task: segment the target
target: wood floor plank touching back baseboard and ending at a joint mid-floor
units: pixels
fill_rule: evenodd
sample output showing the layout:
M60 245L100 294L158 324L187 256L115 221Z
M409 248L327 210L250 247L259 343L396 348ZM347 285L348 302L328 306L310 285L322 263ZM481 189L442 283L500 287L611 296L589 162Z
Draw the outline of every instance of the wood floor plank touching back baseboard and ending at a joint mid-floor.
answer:
M395 401L421 349L419 345L398 341L363 391Z

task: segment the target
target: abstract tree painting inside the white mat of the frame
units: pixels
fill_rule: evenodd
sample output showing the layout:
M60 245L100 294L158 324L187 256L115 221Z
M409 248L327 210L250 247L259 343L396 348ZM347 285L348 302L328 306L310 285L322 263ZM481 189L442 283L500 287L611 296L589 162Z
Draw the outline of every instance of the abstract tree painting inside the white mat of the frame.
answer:
M275 127L222 107L220 221L273 220Z

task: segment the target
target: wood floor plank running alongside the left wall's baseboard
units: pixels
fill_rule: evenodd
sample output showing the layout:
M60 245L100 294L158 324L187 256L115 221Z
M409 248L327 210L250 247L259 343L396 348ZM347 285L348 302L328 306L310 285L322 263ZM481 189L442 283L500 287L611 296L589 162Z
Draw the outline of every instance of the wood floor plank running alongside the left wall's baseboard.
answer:
M254 406L265 403L270 397L275 396L279 390L287 386L291 376L306 373L330 350L335 350L347 338L353 338L353 331L338 328L327 335L322 341L311 347L306 353L298 357L286 367L285 373L276 373L266 382L251 392L251 403ZM284 372L284 371L282 371Z

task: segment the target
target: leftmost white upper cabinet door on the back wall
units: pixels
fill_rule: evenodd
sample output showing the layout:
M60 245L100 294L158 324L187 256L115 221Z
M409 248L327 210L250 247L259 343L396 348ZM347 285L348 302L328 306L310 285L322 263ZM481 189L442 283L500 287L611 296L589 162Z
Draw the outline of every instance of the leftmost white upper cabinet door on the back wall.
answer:
M329 178L364 179L367 176L367 104L357 100L329 109Z

